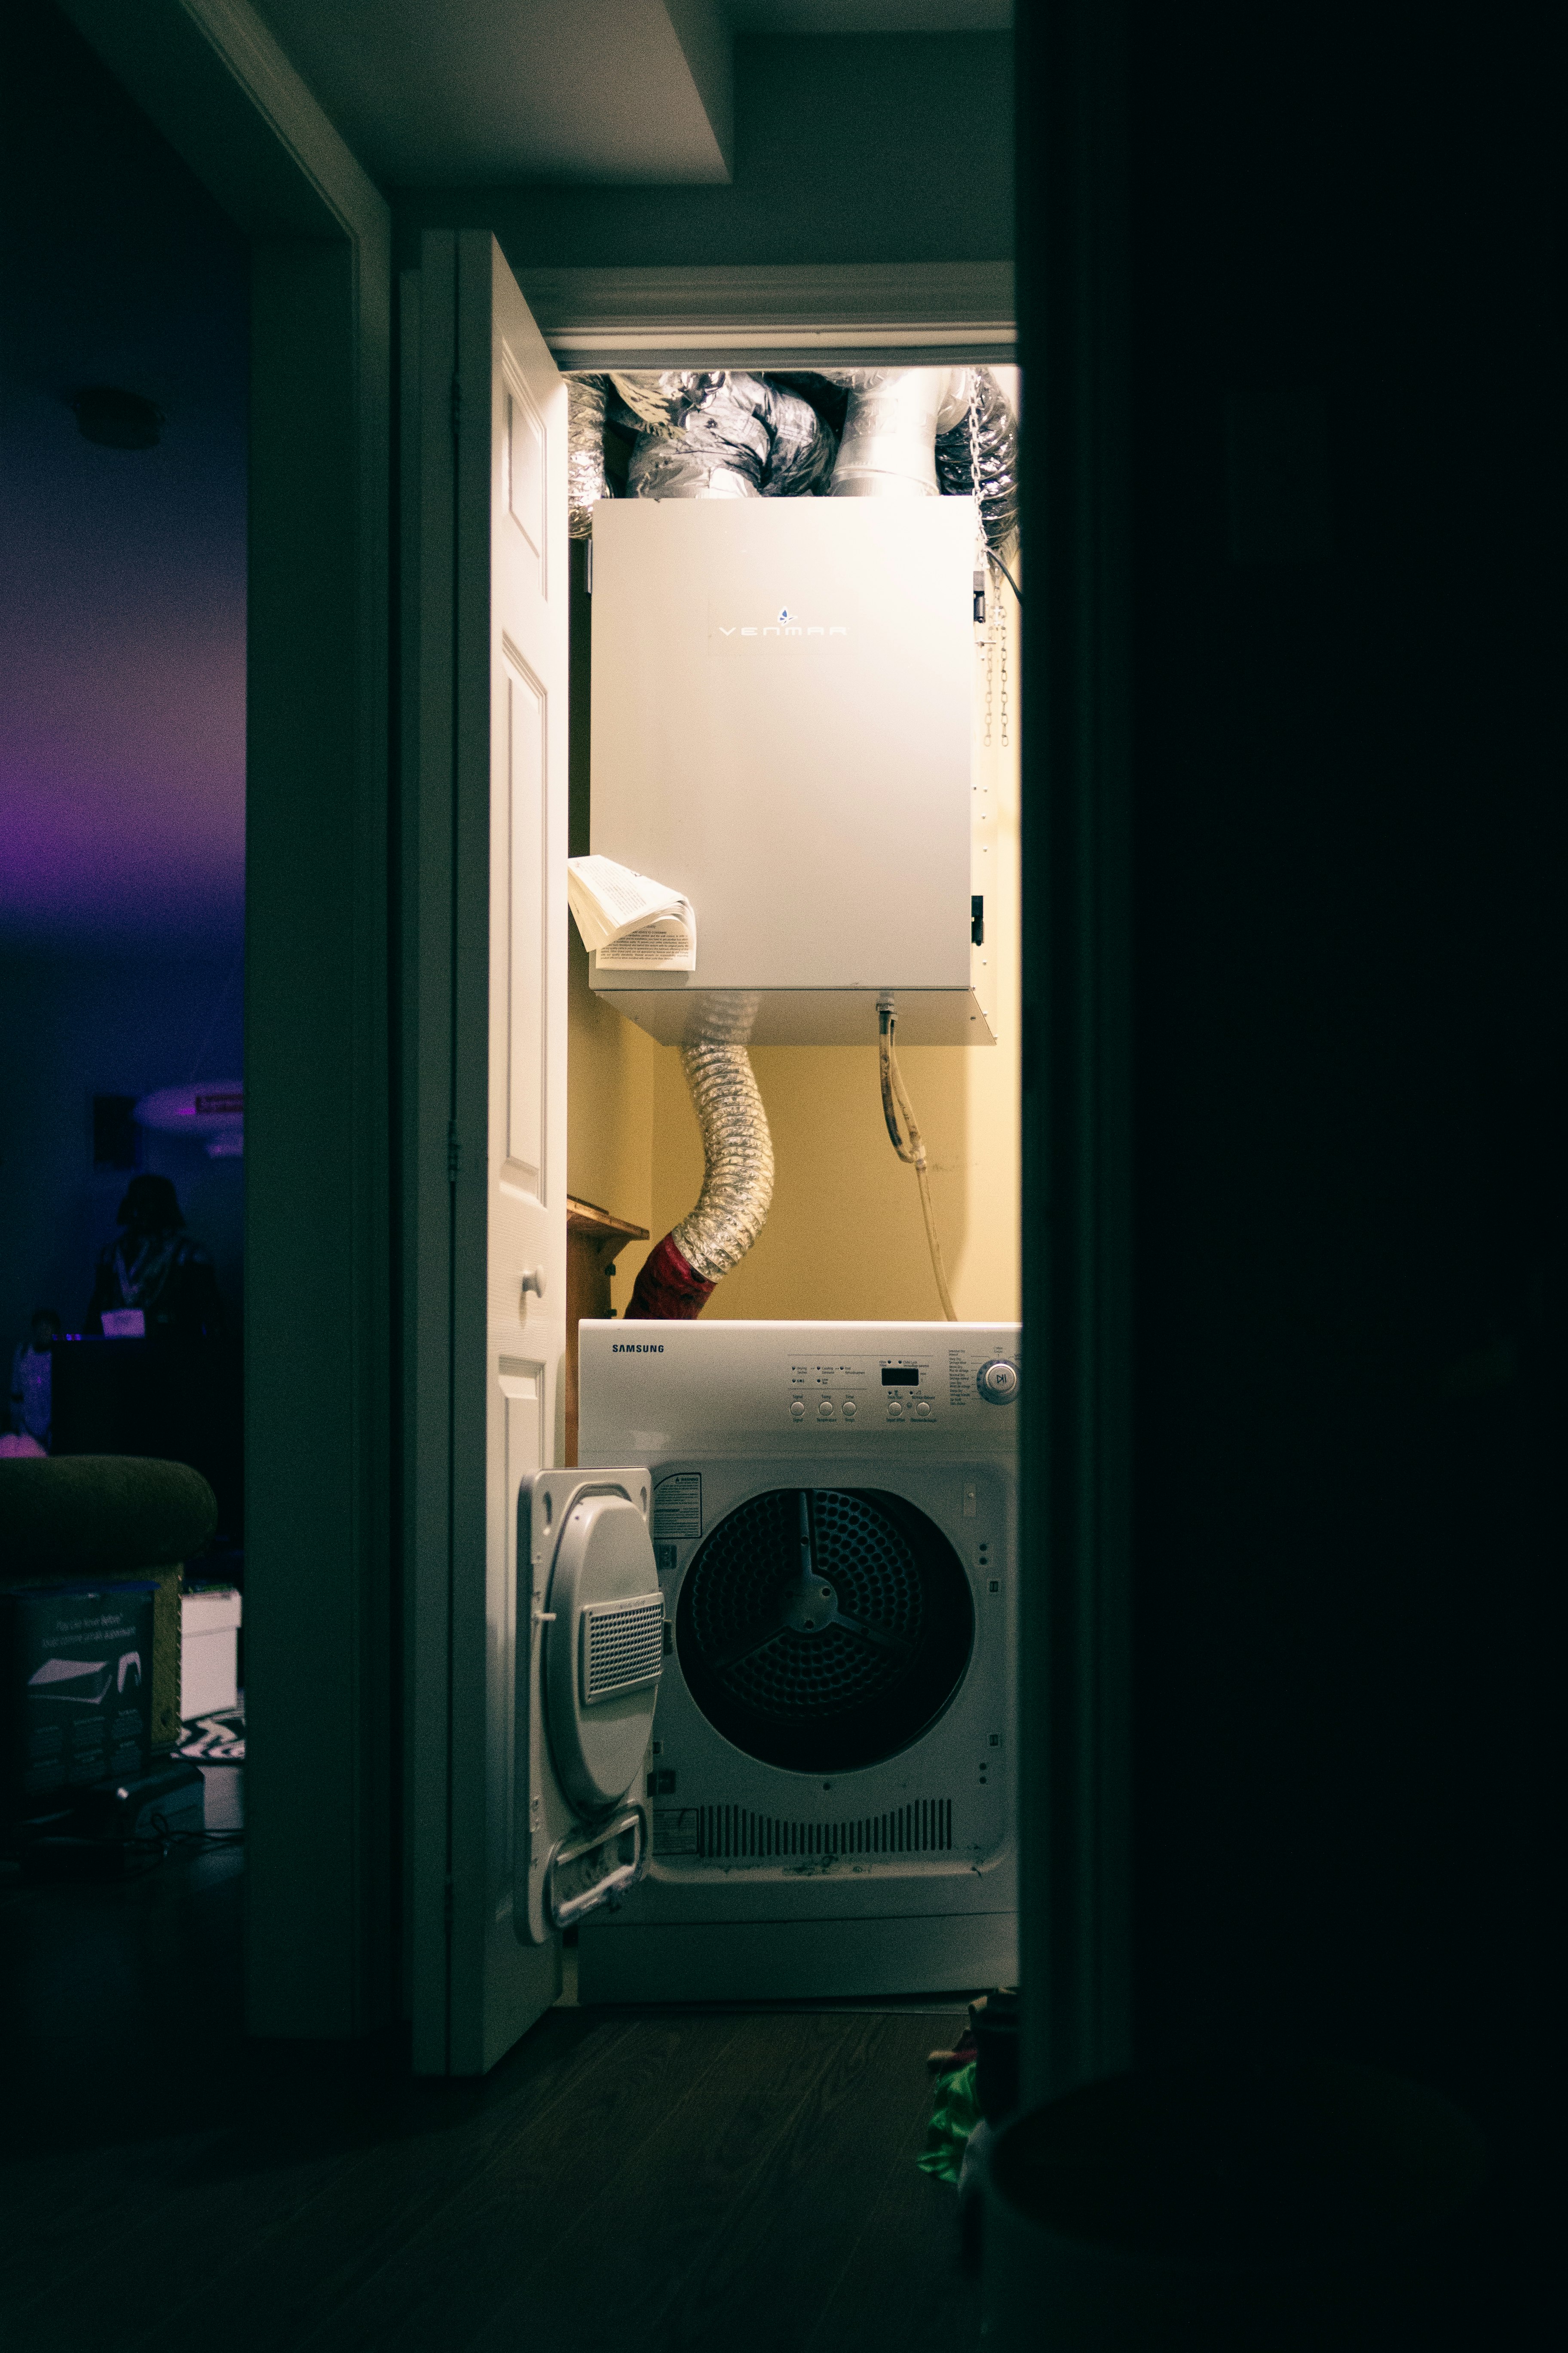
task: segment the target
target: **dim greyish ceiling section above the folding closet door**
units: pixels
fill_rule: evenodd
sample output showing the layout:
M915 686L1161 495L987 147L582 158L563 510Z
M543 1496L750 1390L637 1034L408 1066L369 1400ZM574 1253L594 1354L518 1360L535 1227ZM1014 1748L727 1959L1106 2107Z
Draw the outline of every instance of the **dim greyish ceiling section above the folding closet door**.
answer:
M736 33L987 33L1011 0L256 0L400 188L722 184Z

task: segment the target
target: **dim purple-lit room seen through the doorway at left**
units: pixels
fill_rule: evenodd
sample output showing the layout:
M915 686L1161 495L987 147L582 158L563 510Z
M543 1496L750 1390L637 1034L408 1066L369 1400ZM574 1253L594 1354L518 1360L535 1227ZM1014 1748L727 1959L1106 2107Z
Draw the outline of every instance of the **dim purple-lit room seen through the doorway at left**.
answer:
M7 1751L66 1875L106 1781L148 1864L240 1819L247 252L63 16L7 49L7 1682L89 1588L134 1661Z

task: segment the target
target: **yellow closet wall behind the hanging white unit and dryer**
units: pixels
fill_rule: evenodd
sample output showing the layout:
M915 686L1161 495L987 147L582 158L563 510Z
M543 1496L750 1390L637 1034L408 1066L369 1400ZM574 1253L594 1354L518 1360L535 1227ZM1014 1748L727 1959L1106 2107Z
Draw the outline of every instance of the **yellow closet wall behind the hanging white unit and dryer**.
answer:
M1009 598L1011 607L1011 598ZM1018 675L1009 609L1009 671ZM992 675L992 746L976 696L976 889L985 946L973 976L994 1047L905 1047L900 1066L926 1139L931 1198L961 1320L1018 1315L1018 729L1001 746L1001 671ZM1016 715L1016 694L1013 715ZM882 1122L877 1047L757 1047L773 1129L773 1209L755 1249L715 1289L710 1318L938 1318L914 1169ZM693 1205L703 1146L679 1054L595 1002L571 941L569 1186L635 1219L651 1238ZM623 1315L649 1245L621 1252L611 1294Z

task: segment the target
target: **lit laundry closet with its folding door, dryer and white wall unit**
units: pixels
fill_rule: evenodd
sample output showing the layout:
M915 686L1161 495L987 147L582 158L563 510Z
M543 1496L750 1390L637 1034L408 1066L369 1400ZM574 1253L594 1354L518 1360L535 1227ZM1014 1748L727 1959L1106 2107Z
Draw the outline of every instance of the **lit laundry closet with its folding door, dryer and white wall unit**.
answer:
M564 1937L590 2002L1009 1981L1018 384L562 381L475 235L404 315L416 2064Z

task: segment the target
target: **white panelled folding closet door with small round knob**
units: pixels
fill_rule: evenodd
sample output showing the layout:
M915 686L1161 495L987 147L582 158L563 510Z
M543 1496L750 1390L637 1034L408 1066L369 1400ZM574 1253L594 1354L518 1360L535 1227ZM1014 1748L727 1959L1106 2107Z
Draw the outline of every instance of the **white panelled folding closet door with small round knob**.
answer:
M404 1932L414 2064L475 2075L559 1991L512 1722L564 1405L567 386L494 238L428 235L402 292Z

